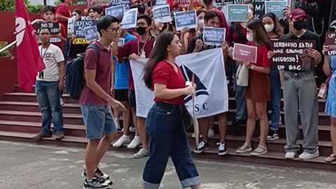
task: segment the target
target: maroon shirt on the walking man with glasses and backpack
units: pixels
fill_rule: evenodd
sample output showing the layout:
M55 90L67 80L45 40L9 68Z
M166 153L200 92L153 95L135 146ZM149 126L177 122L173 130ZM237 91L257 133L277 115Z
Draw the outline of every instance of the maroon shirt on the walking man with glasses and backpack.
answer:
M84 67L85 69L95 70L96 78L94 80L106 92L111 90L111 74L112 74L112 56L111 50L107 50L99 41L94 41L99 47L100 57L98 57L96 50L89 48L85 51ZM99 60L99 61L98 61ZM90 104L106 106L107 102L97 96L89 87L85 85L80 93L79 103L82 105Z

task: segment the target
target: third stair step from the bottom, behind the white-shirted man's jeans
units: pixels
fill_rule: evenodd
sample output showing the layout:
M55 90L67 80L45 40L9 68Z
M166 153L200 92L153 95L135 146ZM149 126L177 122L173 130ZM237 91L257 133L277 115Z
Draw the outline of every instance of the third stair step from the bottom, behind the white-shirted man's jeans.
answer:
M41 123L40 112L29 111L0 111L0 120L28 121ZM64 125L84 125L80 113L63 113Z

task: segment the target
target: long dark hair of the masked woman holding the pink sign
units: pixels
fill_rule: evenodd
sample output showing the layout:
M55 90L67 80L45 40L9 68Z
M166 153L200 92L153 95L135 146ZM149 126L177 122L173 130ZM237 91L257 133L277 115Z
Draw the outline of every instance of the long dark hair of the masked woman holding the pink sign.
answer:
M267 31L262 25L261 20L251 20L247 23L246 28L251 29L253 31L253 44L256 45L264 45L268 49L270 48L269 37L267 35Z

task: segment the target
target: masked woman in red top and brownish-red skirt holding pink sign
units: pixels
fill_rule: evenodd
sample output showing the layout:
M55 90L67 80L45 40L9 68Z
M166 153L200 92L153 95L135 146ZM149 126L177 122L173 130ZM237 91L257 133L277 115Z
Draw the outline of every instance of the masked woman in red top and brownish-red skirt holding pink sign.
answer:
M252 20L246 25L247 45L258 48L256 63L244 62L248 71L248 86L246 88L247 124L246 141L237 149L237 153L251 152L251 139L255 130L255 118L260 120L260 142L251 155L263 155L267 153L266 137L269 123L267 118L267 102L269 101L269 37L260 20Z

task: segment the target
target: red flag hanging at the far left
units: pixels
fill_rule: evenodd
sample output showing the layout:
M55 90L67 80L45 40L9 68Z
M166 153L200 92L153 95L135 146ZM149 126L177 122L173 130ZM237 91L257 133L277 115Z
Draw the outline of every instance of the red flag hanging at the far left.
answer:
M45 66L22 0L15 0L15 31L19 87L25 92L30 92L38 71L45 69Z

